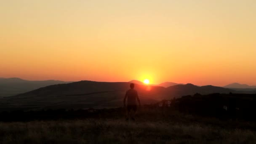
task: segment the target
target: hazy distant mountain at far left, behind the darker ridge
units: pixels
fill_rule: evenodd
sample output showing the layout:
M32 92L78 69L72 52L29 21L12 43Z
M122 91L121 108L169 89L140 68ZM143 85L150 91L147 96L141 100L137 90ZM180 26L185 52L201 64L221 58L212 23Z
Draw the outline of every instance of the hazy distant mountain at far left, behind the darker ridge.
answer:
M25 93L35 90L37 88L45 87L48 85L71 83L59 80L43 80L43 81L30 81L22 80L17 77L13 78L0 78L0 97L13 96L19 93Z

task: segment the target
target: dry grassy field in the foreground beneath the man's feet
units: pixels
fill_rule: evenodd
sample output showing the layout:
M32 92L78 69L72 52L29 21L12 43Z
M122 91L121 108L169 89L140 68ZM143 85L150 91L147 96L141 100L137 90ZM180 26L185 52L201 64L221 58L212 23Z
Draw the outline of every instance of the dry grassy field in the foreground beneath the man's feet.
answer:
M256 125L237 120L140 110L136 121L123 112L80 120L0 123L1 144L254 144Z

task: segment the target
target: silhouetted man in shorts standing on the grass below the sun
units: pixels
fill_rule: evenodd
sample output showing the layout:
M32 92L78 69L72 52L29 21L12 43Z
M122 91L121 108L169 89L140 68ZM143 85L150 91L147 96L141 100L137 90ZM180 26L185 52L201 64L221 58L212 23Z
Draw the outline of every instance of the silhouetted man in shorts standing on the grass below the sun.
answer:
M131 87L131 89L129 89L125 93L125 98L123 100L123 104L125 107L125 100L127 98L126 120L128 120L129 116L130 116L131 119L134 121L135 120L134 115L137 110L136 99L139 102L139 107L141 106L141 102L139 101L138 92L134 89L134 83L131 83L130 87Z

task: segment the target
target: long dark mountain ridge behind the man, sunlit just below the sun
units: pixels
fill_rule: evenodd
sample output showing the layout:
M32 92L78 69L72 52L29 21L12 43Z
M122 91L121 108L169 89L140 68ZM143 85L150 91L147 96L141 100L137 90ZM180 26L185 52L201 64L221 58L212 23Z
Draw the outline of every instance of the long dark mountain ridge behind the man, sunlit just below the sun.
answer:
M50 85L34 91L0 99L0 111L10 109L40 108L111 108L122 107L129 82L79 81ZM234 90L212 85L174 85L168 88L152 85L136 85L141 104L153 104L163 99L172 99L195 93L234 93Z

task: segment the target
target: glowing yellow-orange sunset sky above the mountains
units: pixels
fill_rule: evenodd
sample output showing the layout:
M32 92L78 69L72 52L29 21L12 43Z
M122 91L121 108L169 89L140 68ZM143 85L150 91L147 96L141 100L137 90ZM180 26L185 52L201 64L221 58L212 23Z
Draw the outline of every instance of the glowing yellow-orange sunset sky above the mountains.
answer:
M256 0L0 0L0 77L256 85Z

